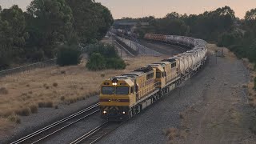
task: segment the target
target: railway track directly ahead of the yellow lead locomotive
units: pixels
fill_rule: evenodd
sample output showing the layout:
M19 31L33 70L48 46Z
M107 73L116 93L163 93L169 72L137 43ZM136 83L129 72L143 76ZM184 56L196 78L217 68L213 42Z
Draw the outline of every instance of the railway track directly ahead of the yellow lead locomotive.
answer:
M90 130L86 134L83 134L80 138L74 140L70 144L80 144L80 143L95 143L101 138L110 134L110 132L122 126L124 122L104 122L100 126L97 126L93 130Z

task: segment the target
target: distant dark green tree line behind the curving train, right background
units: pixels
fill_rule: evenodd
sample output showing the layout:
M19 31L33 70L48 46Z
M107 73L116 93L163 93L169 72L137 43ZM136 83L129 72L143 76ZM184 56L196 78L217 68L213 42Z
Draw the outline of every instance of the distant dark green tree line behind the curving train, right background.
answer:
M136 26L134 31L140 38L146 33L202 38L228 47L238 58L249 58L250 62L256 63L256 9L247 11L243 19L236 18L234 10L224 6L203 14L172 12L164 18L122 18L114 22L117 28L130 29L118 26L118 22L149 22L149 26L140 26L139 23Z

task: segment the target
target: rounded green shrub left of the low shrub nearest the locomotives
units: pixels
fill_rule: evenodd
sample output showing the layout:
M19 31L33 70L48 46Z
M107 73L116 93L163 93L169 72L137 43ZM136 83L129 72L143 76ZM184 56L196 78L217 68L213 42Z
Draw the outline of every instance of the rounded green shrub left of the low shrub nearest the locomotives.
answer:
M86 63L89 70L104 70L106 69L106 61L102 54L91 54L89 61Z

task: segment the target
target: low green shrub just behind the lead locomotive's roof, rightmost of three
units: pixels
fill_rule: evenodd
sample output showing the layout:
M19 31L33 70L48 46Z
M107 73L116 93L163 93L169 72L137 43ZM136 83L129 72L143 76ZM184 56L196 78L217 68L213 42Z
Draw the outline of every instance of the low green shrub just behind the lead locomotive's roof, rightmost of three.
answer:
M107 58L106 59L106 68L123 70L126 69L126 63L121 58Z

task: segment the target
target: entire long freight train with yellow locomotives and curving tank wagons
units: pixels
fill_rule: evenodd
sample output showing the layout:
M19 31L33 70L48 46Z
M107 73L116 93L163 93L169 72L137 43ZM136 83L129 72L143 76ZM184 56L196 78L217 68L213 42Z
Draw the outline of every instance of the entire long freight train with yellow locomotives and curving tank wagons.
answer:
M146 40L190 47L185 53L154 62L101 84L102 118L122 121L140 113L195 74L206 62L206 42L175 35L145 34Z

